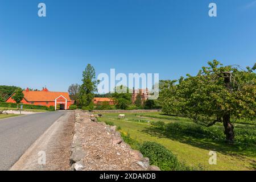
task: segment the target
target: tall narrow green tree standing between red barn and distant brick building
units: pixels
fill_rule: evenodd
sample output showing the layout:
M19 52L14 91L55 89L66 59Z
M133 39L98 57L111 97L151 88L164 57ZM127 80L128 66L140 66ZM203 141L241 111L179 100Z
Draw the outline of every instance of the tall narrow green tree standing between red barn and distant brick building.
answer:
M82 72L82 85L79 91L79 105L88 106L92 102L94 92L97 92L98 80L96 80L95 69L88 64L85 71Z

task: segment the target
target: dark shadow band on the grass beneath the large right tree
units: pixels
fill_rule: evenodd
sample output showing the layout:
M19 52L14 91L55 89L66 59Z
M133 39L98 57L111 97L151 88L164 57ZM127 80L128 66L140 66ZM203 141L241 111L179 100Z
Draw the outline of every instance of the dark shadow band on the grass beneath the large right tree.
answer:
M141 132L147 133L152 137L168 138L205 150L213 150L224 155L236 156L236 158L240 159L243 159L244 156L256 156L256 147L254 146L245 146L241 144L230 145L224 141L214 141L209 138L196 137L195 135L191 136L188 133L183 133L182 131L173 131L172 133L166 132L153 126L146 127L141 130Z

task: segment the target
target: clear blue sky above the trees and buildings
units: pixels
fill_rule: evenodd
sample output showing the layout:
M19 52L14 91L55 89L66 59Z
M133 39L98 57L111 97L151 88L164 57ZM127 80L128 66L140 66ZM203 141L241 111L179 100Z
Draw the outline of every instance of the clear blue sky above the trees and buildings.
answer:
M256 1L0 0L0 85L66 91L88 63L97 75L115 68L175 79L213 59L255 63Z

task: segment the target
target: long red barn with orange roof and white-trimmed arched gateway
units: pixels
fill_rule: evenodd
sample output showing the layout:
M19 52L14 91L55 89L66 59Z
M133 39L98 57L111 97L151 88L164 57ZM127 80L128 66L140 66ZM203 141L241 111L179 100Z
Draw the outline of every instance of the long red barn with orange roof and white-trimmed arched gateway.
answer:
M69 109L69 106L74 104L69 98L68 92L50 92L47 88L41 91L30 91L28 88L23 91L24 98L21 101L23 104L54 106L60 105L61 110ZM6 102L16 103L11 97L7 98Z

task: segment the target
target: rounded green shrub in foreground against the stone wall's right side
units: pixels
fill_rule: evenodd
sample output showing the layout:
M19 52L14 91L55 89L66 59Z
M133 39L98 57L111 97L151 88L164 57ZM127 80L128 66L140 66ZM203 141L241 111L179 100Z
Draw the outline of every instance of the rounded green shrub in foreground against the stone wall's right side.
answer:
M150 159L150 165L158 166L163 171L180 170L183 166L179 163L177 156L161 144L144 142L140 151L144 157Z

